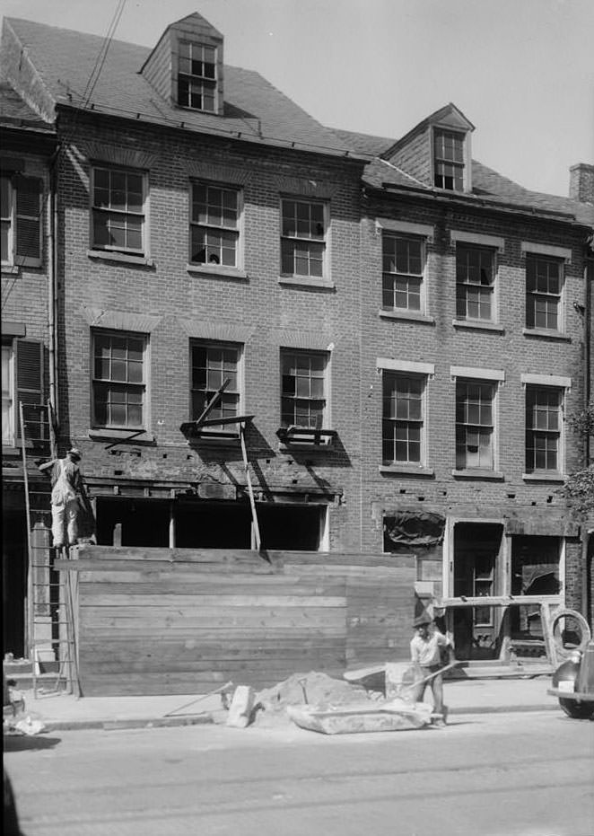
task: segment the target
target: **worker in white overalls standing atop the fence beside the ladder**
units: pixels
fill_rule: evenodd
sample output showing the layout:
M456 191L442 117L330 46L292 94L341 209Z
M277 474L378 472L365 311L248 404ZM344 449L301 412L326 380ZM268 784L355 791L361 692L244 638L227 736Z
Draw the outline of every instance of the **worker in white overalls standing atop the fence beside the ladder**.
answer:
M81 453L73 447L66 453L66 458L39 465L40 471L51 468L51 532L56 549L74 546L78 541L79 499L83 493L80 461Z

